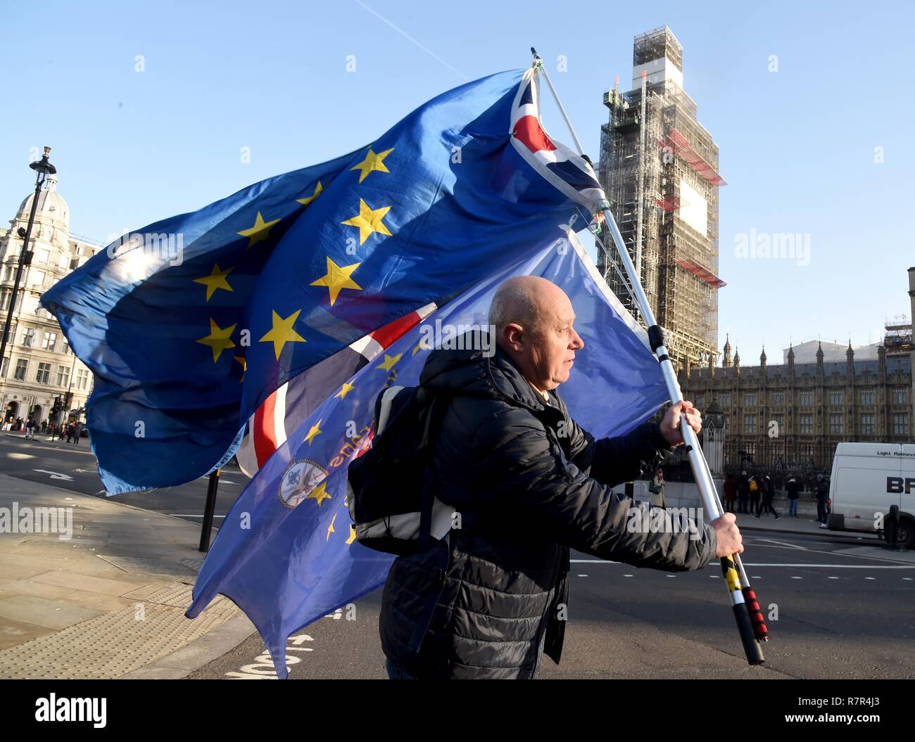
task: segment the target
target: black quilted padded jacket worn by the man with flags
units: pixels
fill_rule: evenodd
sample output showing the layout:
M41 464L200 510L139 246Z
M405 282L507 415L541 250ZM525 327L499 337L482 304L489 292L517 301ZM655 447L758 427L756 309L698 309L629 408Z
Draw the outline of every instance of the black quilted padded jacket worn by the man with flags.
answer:
M594 440L498 347L491 357L433 351L420 384L450 398L434 471L436 496L457 509L459 527L398 557L385 582L382 650L407 673L522 679L539 673L542 652L558 663L570 548L668 571L715 558L710 525L695 534L627 527L633 501L611 487L671 451L656 423Z

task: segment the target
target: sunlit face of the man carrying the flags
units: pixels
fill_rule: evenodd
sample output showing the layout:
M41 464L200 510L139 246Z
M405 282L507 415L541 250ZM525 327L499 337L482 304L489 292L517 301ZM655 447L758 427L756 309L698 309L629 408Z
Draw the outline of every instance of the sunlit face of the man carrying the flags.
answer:
M572 302L565 293L550 302L540 317L540 323L533 328L531 343L525 344L528 355L528 380L538 389L554 389L568 381L569 372L575 361L575 352L585 342L572 326L575 312Z

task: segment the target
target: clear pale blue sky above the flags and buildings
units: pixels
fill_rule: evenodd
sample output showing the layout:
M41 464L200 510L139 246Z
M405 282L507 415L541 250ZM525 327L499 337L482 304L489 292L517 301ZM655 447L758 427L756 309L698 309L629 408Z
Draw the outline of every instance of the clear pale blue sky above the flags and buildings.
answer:
M720 193L727 287L719 346L729 332L749 365L763 341L770 363L790 338L875 342L885 318L910 313L915 14L877 2L823 8L496 0L7 6L0 218L12 218L33 186L32 148L53 147L72 231L107 241L369 143L442 90L527 66L532 44L597 159L603 90L615 75L628 87L632 37L666 24L684 46L684 89L720 147L728 182ZM135 69L138 55L145 71ZM556 71L560 55L565 72ZM778 71L770 71L771 55ZM545 121L571 143L555 111ZM809 264L738 258L736 240L751 232L809 235Z

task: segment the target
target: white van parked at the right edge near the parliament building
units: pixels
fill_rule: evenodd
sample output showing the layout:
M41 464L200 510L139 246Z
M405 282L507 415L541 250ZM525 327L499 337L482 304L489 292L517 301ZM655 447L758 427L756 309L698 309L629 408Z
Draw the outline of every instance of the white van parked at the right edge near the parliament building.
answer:
M839 443L829 482L831 531L882 534L882 516L899 506L897 543L915 544L915 444Z

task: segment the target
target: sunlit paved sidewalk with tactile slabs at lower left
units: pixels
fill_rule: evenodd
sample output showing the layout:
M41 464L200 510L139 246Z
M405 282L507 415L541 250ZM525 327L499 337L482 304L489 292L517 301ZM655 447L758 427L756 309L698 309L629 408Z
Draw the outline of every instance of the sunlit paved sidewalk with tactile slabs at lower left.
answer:
M72 537L8 532L38 507ZM0 523L0 678L179 678L255 631L223 597L184 617L199 525L5 474Z

